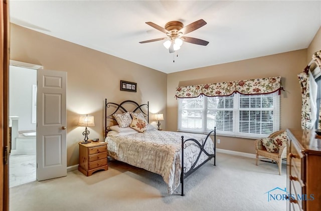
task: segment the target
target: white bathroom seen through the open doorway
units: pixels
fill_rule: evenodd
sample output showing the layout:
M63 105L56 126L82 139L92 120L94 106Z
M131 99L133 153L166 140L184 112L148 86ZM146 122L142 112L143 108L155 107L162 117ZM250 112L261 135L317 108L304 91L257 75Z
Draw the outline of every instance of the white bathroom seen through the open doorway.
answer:
M37 178L36 113L37 70L10 65L10 187L31 182Z

